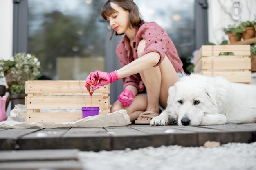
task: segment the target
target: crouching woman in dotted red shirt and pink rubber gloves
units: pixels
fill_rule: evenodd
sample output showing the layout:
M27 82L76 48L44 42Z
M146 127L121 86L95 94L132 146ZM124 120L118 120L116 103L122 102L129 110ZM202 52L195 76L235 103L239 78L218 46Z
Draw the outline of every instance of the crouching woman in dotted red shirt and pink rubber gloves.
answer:
M166 108L168 88L183 75L182 61L166 31L155 22L143 21L133 0L108 0L101 15L113 32L124 34L116 49L122 68L92 72L86 86L95 77L99 82L92 90L122 79L124 91L110 112L125 109L131 122L150 124L159 115L159 106Z

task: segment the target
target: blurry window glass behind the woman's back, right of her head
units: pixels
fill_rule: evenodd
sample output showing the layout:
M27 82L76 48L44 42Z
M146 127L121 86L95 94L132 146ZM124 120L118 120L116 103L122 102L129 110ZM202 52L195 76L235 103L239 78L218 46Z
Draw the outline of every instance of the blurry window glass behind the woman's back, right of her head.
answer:
M154 21L166 30L184 60L195 50L194 1L134 0L145 21Z

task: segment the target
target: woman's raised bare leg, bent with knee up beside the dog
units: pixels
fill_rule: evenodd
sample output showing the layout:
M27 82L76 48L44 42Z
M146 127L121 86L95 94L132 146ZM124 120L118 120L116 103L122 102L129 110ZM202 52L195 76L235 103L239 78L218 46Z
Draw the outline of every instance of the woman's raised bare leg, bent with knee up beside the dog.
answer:
M145 42L145 40L142 40L138 45L138 57L141 57L144 52ZM162 107L166 107L168 89L179 79L173 65L168 57L165 57L159 66L141 72L140 76L148 94L146 111L159 113L159 103ZM151 120L151 118L144 117L138 118L138 120Z

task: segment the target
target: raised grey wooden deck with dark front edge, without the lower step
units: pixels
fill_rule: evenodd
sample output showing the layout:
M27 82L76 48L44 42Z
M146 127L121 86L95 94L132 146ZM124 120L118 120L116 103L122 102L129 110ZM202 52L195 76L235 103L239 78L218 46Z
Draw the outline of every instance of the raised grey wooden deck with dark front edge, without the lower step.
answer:
M124 150L162 145L203 146L206 141L254 142L256 123L218 126L128 125L108 128L3 129L0 150Z

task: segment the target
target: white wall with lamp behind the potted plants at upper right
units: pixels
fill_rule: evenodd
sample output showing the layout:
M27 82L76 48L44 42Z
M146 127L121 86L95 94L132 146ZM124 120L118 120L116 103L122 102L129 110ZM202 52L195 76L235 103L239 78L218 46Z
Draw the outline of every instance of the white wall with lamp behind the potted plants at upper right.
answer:
M233 20L231 17L234 2L240 2L239 20ZM208 5L208 39L214 44L228 40L223 28L229 24L254 20L256 15L256 0L208 0Z

